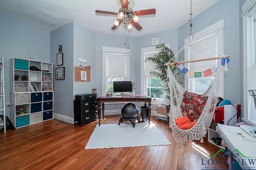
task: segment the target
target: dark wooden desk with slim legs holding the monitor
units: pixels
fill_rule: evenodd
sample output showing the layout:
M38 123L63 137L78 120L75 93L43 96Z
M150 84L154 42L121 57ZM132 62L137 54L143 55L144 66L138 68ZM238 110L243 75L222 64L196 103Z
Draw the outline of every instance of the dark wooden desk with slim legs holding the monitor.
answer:
M104 103L106 102L144 102L145 106L148 103L148 124L150 124L150 115L151 115L151 97L143 95L134 95L134 96L99 96L98 97L98 108L99 108L99 126L101 119L101 106L102 106L102 118L104 119Z

